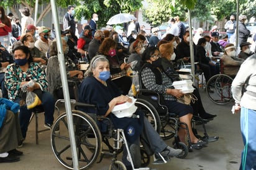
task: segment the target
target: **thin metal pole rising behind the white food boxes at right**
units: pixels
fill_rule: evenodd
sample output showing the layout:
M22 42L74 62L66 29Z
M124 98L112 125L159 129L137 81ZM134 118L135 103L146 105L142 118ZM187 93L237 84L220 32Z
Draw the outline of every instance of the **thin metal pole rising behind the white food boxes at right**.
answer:
M188 9L188 22L190 26L190 62L191 62L191 74L193 75L194 82L194 42L193 42L193 33L192 33L192 24L191 24L191 11Z

